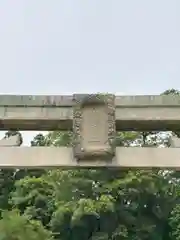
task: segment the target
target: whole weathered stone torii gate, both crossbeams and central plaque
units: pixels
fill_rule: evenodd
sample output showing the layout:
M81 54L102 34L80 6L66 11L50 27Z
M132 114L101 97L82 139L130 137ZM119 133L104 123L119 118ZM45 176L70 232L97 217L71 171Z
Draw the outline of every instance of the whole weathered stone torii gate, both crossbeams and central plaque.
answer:
M72 130L71 147L0 141L0 168L180 167L180 148L116 147L116 130L180 129L178 96L0 96L0 129Z

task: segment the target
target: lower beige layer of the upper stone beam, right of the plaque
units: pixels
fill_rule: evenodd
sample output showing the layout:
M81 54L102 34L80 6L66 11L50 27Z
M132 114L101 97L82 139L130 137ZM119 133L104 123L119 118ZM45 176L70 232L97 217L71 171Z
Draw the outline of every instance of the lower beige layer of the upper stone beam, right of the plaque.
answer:
M179 130L179 107L116 107L118 130Z

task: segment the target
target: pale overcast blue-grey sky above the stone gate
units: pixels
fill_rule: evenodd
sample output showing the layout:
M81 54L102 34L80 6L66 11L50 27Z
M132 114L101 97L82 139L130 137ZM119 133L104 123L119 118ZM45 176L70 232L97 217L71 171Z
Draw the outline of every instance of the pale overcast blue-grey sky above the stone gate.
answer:
M1 0L0 94L180 89L179 13L179 0Z

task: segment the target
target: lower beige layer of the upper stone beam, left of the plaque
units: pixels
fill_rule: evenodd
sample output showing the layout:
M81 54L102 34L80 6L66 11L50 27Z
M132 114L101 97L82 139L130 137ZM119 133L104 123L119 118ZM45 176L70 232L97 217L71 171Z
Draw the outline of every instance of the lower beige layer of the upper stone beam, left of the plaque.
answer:
M71 130L70 107L1 107L0 130Z

